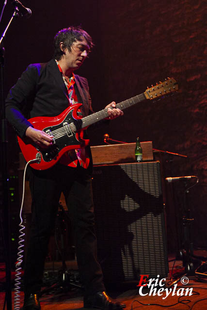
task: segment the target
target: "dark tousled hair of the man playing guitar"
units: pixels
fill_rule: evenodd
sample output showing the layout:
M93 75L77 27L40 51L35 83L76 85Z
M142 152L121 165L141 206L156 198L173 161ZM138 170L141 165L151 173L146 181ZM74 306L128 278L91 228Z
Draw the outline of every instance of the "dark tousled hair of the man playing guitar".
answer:
M56 33L54 37L54 58L59 61L63 55L64 52L60 48L60 43L63 42L63 48L68 48L69 51L71 51L71 46L74 42L82 41L82 38L84 38L88 45L89 45L89 51L91 51L92 47L94 46L92 42L91 36L84 31L80 26L74 27L70 26L68 28L64 28L58 33Z

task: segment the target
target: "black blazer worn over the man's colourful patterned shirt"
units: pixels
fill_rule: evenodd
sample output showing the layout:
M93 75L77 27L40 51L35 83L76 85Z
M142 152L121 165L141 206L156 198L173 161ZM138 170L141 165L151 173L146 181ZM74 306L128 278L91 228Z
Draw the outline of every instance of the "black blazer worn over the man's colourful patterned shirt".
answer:
M86 78L75 75L75 90L82 103L83 117L93 113ZM27 119L56 116L68 107L67 90L54 59L30 64L10 90L6 101L6 118L19 137L31 126Z

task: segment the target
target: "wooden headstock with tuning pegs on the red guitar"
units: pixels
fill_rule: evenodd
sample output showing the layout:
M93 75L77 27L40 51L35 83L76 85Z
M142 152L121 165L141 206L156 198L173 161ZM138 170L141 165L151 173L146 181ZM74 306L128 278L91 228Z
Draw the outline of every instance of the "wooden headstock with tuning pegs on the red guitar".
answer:
M160 96L164 96L168 93L173 93L178 90L177 82L175 78L167 78L163 82L157 83L155 86L146 89L144 95L146 99L154 100Z

